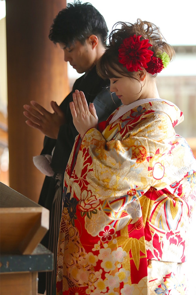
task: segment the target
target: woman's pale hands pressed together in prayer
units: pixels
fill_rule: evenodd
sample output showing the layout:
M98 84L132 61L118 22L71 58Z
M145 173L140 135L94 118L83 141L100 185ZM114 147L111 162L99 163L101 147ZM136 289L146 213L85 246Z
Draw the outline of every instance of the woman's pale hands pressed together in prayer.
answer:
M73 124L81 138L90 128L97 128L98 117L94 104L88 107L85 95L82 91L76 90L73 93L73 101L70 102Z

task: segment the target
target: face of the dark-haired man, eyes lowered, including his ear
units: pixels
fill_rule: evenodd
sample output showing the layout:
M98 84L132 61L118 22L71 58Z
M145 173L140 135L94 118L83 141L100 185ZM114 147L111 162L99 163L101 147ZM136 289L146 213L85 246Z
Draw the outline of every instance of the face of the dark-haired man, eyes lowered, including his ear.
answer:
M86 39L84 44L76 41L69 47L66 47L63 43L59 43L59 46L64 51L64 60L69 62L78 73L87 72L95 65L96 50L93 49L89 38Z

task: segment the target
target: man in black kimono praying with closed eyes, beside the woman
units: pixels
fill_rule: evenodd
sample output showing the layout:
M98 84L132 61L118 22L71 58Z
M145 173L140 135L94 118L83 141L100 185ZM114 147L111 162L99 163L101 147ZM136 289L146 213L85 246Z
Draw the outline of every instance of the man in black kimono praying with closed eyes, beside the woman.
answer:
M39 273L38 293L41 294L44 293L45 286L47 295L56 294L56 248L61 219L63 175L78 134L69 108L69 102L73 100L72 94L76 89L84 92L88 104L93 102L99 122L106 120L121 105L121 101L116 96L112 97L108 90L109 80L104 81L96 72L96 63L105 51L107 34L105 20L94 6L90 3L81 4L80 1L67 4L53 20L49 38L61 47L64 60L84 75L76 80L71 93L60 106L51 101L53 114L36 102L32 102L32 106L24 106L26 124L45 135L41 155L48 155L48 168L39 204L50 210L50 228L42 244L54 253L54 271ZM50 158L51 163L47 162Z

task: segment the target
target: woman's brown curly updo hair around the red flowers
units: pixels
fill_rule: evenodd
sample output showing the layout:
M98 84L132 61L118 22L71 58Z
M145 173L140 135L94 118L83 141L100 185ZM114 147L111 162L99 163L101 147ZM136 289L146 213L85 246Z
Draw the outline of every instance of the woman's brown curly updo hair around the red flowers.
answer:
M118 29L119 25L121 26L120 29ZM129 72L118 60L118 49L123 40L133 35L136 35L136 37L142 36L140 40L149 40L148 42L153 45L149 47L154 52L153 56L166 52L169 55L170 61L174 57L175 51L173 47L166 42L159 27L155 26L155 24L142 21L141 19L137 19L137 22L134 24L117 22L108 37L109 44L106 46L105 53L97 63L97 73L101 78L118 78L118 73L134 78L135 72ZM157 74L154 76L157 76Z

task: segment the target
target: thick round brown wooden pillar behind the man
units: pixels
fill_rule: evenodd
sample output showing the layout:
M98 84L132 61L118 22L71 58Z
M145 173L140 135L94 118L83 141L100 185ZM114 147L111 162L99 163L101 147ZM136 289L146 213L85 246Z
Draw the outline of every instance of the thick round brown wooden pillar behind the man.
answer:
M23 105L37 101L52 111L69 92L63 51L48 38L64 0L6 0L9 186L38 201L44 175L33 165L43 134L25 123ZM61 52L62 51L62 52Z

